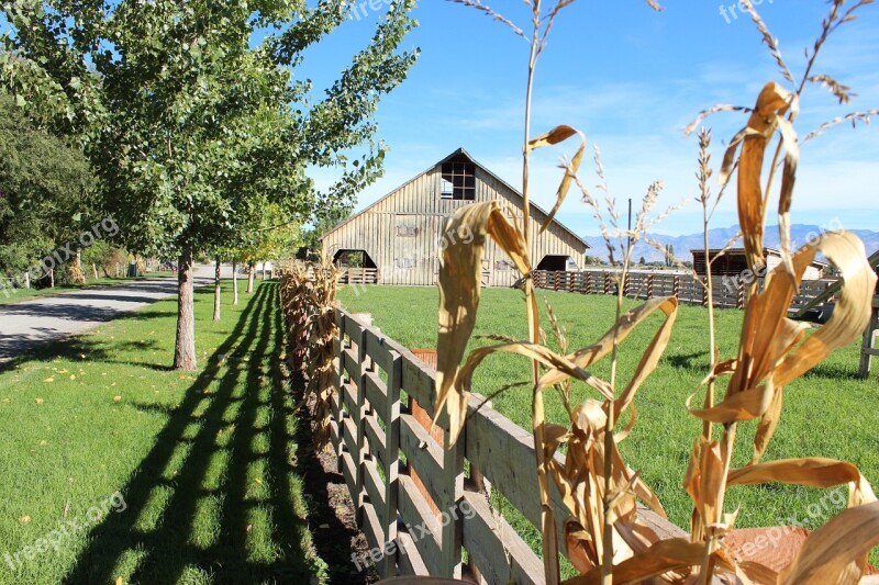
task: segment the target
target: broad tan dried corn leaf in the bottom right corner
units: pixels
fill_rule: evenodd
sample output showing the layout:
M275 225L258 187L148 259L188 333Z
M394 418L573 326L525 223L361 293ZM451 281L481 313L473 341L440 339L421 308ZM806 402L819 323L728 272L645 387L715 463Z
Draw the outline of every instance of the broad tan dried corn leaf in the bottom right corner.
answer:
M779 585L856 584L870 549L879 544L879 502L849 508L812 532Z

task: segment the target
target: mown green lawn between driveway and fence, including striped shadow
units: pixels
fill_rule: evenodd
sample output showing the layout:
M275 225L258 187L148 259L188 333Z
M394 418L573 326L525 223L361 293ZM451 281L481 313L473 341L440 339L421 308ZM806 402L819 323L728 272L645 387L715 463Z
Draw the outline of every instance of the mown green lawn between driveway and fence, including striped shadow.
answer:
M323 578L278 285L257 286L219 323L197 292L197 372L169 368L169 300L0 373L0 583Z

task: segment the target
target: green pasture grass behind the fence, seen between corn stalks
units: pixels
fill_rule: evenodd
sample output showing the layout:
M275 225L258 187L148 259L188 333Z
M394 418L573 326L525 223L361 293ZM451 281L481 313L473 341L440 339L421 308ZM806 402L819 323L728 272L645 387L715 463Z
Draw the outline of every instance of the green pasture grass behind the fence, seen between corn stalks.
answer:
M357 292L359 294L357 294ZM541 305L548 300L566 326L571 349L592 344L614 320L615 297L583 296L563 292L538 291ZM438 292L434 288L367 286L359 291L343 289L344 307L372 313L383 333L410 348L436 347ZM626 308L636 305L626 300ZM743 313L717 313L717 341L723 358L735 355ZM689 462L693 440L701 423L687 413L685 401L704 378L709 365L708 311L681 306L671 341L656 372L635 400L638 419L632 435L621 445L627 464L657 493L676 525L688 528L691 511L681 480ZM621 348L620 380L625 384L660 323L653 316L635 330ZM544 318L544 327L548 322ZM524 339L527 336L522 294L514 290L488 289L483 292L475 334L503 334ZM552 334L550 334L552 336ZM470 347L487 345L474 339ZM785 407L779 429L764 460L798 457L826 457L852 461L868 480L879 482L879 384L856 379L859 345L832 355L785 392ZM605 380L610 360L592 372ZM483 395L512 382L528 380L524 358L496 355L477 370L474 389ZM598 397L585 385L575 386L578 401ZM701 404L701 396L697 402ZM547 418L567 424L558 397L547 394ZM531 390L518 387L494 400L494 407L516 424L531 428ZM754 424L739 425L734 465L747 463L753 454ZM739 508L736 526L778 526L793 518L808 528L816 528L842 510L844 490L827 492L782 485L735 487L728 492L727 508ZM823 499L822 499L823 498ZM811 506L811 508L810 508ZM532 545L539 538L516 521ZM879 560L876 551L872 561Z

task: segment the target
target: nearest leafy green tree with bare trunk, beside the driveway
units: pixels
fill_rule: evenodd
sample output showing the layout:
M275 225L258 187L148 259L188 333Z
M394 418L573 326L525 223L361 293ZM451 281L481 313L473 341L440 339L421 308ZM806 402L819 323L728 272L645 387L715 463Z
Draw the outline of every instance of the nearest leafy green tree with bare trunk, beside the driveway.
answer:
M176 368L196 368L196 250L248 229L266 202L286 201L303 222L381 172L374 114L416 58L398 50L413 4L392 0L322 100L292 70L345 21L345 0L3 4L14 29L3 83L34 119L82 142L130 248L179 257ZM257 33L265 41L252 47ZM316 192L309 166L341 177Z

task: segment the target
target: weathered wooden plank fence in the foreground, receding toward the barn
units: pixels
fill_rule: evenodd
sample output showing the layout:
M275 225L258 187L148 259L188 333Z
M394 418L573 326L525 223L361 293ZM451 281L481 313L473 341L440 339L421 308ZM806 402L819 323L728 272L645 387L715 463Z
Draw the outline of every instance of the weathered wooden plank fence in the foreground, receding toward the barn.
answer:
M539 556L492 510L485 492L490 485L539 527L532 436L489 406L477 410L479 398L474 397L460 439L443 449L409 408L414 398L433 416L434 371L378 329L345 311L335 315L340 334L332 446L358 526L372 549L371 559L357 564L375 562L382 577L468 573L479 583L544 583ZM439 427L448 445L444 416ZM416 470L423 486L407 469ZM563 520L568 514L555 487L553 492ZM683 536L646 509L643 518L657 533Z

